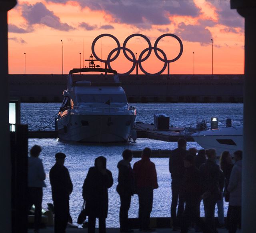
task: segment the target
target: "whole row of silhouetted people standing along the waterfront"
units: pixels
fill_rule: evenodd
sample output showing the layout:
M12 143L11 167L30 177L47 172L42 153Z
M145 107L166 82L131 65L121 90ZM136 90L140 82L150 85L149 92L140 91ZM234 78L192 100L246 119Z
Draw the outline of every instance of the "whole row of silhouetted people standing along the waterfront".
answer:
M35 205L34 232L38 233L41 222L42 188L46 187L46 174L39 155L41 147L34 145L28 157L28 210ZM146 147L142 157L134 163L132 151L125 149L123 159L118 162L118 185L120 196L120 232L133 232L128 223L131 197L139 199L139 229L152 232L150 213L153 206L153 191L158 188L155 164L150 161L152 151ZM69 219L69 195L73 185L68 169L64 166L66 155L56 153L56 163L50 169L50 184L54 203L54 232L65 233ZM186 150L186 141L179 139L178 147L171 151L169 171L172 178L171 218L172 230L187 233L191 225L196 232L217 233L215 207L218 208L218 223L226 226L229 233L235 233L241 225L242 193L242 151L234 152L235 164L230 152L224 151L220 166L216 164L215 149L200 150L192 147ZM84 213L88 216L88 233L95 233L96 218L99 219L99 233L106 233L108 215L108 189L113 185L111 171L106 168L106 158L97 157L90 167L82 187L85 201ZM223 199L229 201L226 223L224 221ZM203 201L205 218L200 217Z

